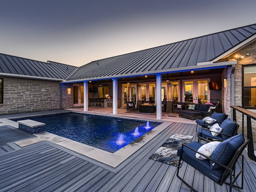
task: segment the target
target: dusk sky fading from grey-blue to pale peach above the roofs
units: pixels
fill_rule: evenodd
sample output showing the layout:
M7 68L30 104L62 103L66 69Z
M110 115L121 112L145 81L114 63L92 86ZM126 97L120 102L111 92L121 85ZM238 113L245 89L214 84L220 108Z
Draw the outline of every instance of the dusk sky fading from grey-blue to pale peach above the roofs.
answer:
M0 53L82 66L256 23L256 0L0 0Z

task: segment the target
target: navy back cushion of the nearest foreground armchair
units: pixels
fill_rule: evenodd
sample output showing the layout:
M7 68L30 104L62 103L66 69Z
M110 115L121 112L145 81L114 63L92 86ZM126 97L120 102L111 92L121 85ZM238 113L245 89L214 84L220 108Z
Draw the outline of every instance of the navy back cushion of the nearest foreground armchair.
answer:
M227 140L222 141L212 152L211 158L221 164L228 165L233 158L236 150L244 143L242 134L235 135ZM210 160L212 170L222 168L220 165Z

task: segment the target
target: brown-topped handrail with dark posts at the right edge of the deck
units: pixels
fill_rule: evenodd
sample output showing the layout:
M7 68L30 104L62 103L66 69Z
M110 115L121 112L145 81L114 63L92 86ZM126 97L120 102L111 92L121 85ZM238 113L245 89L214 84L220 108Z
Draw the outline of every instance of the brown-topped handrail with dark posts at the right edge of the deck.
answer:
M243 114L242 116L242 132L244 135L244 115L246 115L246 120L247 120L247 139L249 140L248 142L248 157L251 160L254 160L256 162L256 156L254 154L254 144L253 144L253 134L252 134L252 120L256 120L256 113L249 111L245 108L242 108L240 106L230 106L233 109L233 120L236 121L236 111L240 112Z

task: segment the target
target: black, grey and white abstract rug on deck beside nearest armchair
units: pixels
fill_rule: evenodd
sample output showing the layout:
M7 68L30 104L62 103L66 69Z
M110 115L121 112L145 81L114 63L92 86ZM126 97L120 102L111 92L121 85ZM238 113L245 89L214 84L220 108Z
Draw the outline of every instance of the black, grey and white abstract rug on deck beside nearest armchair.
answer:
M181 147L182 144L190 143L192 138L193 136L190 135L174 133L154 154L152 154L152 156L150 156L150 159L177 167L180 159L177 155L178 148Z

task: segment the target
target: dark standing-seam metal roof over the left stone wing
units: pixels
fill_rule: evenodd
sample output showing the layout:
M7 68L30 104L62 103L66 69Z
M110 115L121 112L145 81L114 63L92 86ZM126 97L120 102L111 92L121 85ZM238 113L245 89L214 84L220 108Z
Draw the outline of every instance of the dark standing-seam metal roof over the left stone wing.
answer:
M56 63L41 62L6 54L0 54L0 75L45 80L65 80L78 67Z

